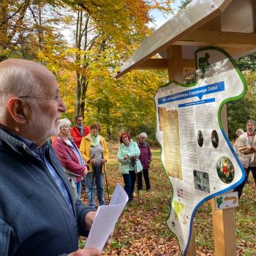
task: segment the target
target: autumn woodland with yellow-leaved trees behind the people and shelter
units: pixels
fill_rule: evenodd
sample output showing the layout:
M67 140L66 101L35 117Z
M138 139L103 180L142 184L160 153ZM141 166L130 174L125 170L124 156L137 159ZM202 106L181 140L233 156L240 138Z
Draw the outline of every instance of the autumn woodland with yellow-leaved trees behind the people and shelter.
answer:
M190 0L181 0L179 9ZM154 94L167 72L135 70L114 78L140 42L154 31L153 10L170 14L173 0L1 0L0 61L23 58L45 64L59 81L67 116L99 121L118 138L147 132L155 141ZM151 24L151 26L149 26ZM72 34L67 37L65 34ZM256 55L237 60L248 83L243 99L228 103L230 139L255 114ZM189 79L187 80L187 82Z

